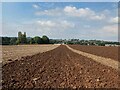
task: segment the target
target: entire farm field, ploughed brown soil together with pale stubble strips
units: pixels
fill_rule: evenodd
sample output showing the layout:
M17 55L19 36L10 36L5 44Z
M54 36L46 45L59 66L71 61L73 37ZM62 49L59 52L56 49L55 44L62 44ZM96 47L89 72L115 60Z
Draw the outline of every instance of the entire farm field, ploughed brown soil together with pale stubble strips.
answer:
M2 66L3 89L118 88L117 50L79 45L3 46L3 54L13 61ZM22 58L14 60L15 56Z

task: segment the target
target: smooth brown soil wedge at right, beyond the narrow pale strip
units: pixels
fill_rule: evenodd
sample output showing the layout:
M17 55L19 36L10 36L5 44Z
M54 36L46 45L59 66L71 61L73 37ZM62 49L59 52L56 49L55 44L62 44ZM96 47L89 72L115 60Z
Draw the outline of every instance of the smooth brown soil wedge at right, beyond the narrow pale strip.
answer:
M91 53L106 58L111 58L118 61L118 55L119 55L118 48L120 47L82 46L82 45L69 45L69 46L76 50L80 50L83 52Z

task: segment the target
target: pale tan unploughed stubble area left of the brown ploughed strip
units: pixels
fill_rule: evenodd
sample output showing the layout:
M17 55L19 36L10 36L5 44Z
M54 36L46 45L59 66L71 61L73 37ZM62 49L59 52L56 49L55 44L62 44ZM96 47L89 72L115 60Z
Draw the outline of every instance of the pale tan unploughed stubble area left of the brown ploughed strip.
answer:
M31 56L37 53L46 52L57 48L59 45L11 45L2 46L2 62L7 63L11 60L20 59L24 56Z

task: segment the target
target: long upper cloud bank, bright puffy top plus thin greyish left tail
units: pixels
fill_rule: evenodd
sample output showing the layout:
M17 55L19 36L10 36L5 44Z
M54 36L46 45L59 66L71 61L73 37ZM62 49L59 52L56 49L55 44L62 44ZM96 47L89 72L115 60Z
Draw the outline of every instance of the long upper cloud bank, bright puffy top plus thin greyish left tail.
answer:
M35 15L48 15L48 16L72 16L72 17L84 17L90 20L103 20L104 14L98 14L90 8L76 8L72 6L66 6L63 9L55 8L44 11L37 11Z

